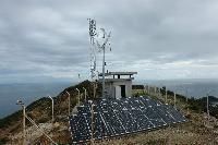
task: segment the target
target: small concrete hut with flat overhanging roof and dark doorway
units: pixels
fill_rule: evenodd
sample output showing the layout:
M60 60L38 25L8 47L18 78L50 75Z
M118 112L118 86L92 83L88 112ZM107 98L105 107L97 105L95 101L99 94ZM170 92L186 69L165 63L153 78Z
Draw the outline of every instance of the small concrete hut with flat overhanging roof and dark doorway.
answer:
M107 98L132 97L133 74L137 72L107 72L105 73L105 86ZM102 73L99 74L102 76ZM99 78L102 82L102 78Z

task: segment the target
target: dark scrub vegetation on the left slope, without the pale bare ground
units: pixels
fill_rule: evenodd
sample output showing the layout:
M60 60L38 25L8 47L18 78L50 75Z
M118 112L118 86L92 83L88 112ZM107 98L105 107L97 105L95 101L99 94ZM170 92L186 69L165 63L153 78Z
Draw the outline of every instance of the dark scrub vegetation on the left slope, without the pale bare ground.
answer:
M84 81L75 86L70 86L61 92L58 96L53 97L55 99L55 122L68 126L68 105L69 99L66 95L66 90L71 95L71 108L74 108L77 102L77 90L81 90L81 101L84 100L84 90L83 87L87 89L87 99L97 99L99 98L100 84L98 84L96 98L94 98L94 85L89 81ZM48 97L43 97L26 107L26 113L29 118L32 118L37 124L51 122L51 100ZM26 125L32 126L29 121L26 120ZM22 131L22 110L19 110L3 119L0 119L0 144L3 144L8 141L11 141L10 136L21 133ZM52 132L52 131L51 131ZM63 133L63 134L62 134ZM66 141L69 141L69 132L65 129L62 132L57 133L57 140L60 141L60 134L66 136ZM21 138L20 138L21 140ZM15 141L14 141L15 142Z

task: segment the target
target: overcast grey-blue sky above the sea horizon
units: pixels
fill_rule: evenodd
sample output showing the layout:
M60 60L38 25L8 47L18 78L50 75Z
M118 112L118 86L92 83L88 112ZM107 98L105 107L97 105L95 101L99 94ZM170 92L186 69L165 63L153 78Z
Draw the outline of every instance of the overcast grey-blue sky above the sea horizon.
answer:
M88 78L88 17L112 33L109 71L218 78L217 14L217 0L1 0L0 83Z

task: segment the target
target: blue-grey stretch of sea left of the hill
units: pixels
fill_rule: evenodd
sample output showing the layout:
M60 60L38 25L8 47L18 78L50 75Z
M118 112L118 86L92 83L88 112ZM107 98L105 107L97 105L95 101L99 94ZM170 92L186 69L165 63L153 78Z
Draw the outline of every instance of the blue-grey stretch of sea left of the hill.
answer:
M21 107L16 105L17 99L27 106L41 97L57 96L70 83L29 83L29 84L0 84L0 118L7 117Z

